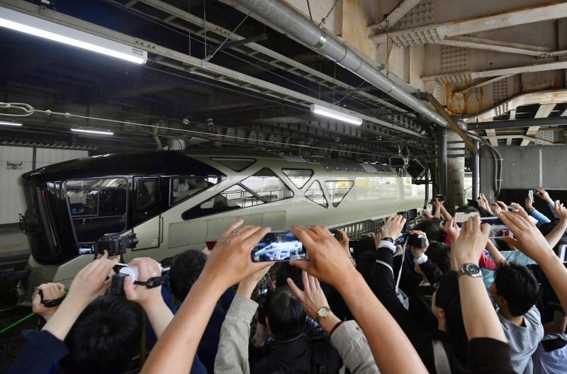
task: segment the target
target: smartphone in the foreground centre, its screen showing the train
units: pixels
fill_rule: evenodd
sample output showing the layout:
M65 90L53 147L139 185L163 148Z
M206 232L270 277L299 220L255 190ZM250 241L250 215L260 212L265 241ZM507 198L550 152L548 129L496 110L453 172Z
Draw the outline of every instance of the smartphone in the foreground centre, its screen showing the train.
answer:
M303 243L288 231L268 232L252 249L252 261L306 260L307 252Z

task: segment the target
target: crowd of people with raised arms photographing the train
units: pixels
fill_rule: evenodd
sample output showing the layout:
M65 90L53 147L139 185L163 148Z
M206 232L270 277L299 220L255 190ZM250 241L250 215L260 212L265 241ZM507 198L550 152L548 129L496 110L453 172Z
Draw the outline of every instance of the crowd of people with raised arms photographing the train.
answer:
M481 196L457 222L434 200L412 246L395 244L400 215L354 251L344 232L291 227L308 260L283 263L274 282L274 263L251 259L270 229L242 221L211 251L177 255L159 287L144 285L162 276L157 261L137 258L137 284L105 295L118 262L105 254L66 296L38 287L45 325L24 331L9 373L127 373L142 335L142 373L567 373L567 208L538 191L551 214L532 196L525 208ZM489 238L481 217L513 237Z

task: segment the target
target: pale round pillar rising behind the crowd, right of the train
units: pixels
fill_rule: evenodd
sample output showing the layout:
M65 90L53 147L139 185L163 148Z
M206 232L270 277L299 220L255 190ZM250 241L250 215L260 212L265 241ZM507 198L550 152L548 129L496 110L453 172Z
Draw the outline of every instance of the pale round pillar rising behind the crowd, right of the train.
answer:
M451 214L455 205L465 203L465 144L459 134L447 130L447 203L445 207Z

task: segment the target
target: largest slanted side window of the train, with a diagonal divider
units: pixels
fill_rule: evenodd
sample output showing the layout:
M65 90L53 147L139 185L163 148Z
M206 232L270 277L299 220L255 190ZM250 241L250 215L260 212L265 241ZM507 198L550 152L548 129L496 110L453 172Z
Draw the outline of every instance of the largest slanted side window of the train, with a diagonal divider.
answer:
M181 214L181 218L191 220L291 197L293 197L293 192L273 171L262 169L240 182L240 184L235 184L201 203L201 205L186 210Z

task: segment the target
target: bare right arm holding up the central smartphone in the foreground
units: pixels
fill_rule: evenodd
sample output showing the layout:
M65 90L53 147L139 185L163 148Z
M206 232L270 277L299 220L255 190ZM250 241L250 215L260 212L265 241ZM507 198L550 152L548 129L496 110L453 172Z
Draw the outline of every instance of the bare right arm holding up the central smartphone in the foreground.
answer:
M292 264L339 291L364 331L381 372L427 373L408 337L374 296L329 230L296 226L291 232L303 242L310 257L309 261L292 261Z

